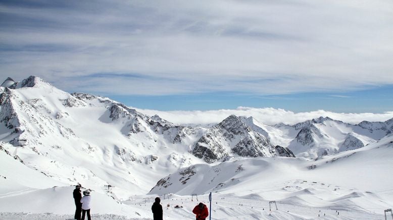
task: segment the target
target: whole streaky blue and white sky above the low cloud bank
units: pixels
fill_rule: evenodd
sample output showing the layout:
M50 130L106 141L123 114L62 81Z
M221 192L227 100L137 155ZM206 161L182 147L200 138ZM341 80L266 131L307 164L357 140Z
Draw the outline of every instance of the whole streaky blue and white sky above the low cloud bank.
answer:
M393 111L393 2L1 1L0 75L137 108Z

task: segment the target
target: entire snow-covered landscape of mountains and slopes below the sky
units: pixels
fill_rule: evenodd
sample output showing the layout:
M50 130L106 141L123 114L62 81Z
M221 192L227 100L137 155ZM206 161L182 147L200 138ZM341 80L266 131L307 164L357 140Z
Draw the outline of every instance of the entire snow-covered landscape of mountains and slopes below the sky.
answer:
M193 219L191 195L208 204L210 192L212 219L383 219L393 207L392 133L393 119L177 125L36 76L8 78L0 218L72 219L80 183L93 191L94 219L152 219L156 196L164 219Z

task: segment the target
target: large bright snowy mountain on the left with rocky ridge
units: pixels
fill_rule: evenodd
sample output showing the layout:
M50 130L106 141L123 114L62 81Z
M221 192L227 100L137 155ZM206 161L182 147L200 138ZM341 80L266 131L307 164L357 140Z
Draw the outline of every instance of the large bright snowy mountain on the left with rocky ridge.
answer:
M4 148L25 166L56 181L139 193L163 173L200 161L188 145L203 129L173 125L108 98L71 95L38 77L16 84L0 87L0 140L12 144Z

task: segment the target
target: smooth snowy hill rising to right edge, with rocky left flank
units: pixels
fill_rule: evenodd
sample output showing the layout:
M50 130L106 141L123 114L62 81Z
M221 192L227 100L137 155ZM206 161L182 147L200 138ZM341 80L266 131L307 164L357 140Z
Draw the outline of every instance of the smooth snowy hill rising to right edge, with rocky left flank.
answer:
M383 193L393 183L385 172L393 167L392 156L393 136L388 136L318 160L260 157L196 164L164 177L150 193L214 192L298 206L382 210L393 205L392 196Z

